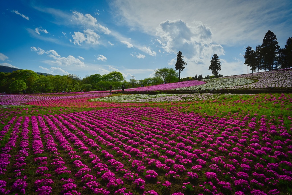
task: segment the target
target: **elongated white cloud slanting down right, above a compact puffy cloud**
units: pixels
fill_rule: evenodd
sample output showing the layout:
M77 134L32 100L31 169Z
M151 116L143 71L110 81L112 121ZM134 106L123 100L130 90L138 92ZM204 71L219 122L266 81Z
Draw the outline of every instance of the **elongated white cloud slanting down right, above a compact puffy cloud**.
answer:
M83 13L79 13L77 11L72 12L72 18L86 27L94 27L96 30L102 31L104 34L109 34L110 30L107 27L102 26L100 23L97 22L96 18L94 18L89 13L83 15Z

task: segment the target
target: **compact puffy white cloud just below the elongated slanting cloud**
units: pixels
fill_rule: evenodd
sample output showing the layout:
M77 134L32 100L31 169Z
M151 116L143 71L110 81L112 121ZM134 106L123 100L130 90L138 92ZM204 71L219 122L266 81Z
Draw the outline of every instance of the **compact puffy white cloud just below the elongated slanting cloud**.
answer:
M100 36L96 34L93 30L87 29L82 32L74 32L72 34L72 38L74 39L73 43L74 45L81 45L83 42L87 44L99 44L98 39Z

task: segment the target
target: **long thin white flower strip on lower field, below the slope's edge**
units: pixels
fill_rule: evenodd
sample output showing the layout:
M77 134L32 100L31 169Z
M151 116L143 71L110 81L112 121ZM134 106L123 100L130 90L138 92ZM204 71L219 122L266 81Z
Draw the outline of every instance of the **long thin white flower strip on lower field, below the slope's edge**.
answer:
M242 95L242 94L223 94L228 95ZM92 101L110 101L110 102L162 102L162 101L199 101L218 99L222 94L157 94L157 95L122 95L112 97L102 97L91 99Z

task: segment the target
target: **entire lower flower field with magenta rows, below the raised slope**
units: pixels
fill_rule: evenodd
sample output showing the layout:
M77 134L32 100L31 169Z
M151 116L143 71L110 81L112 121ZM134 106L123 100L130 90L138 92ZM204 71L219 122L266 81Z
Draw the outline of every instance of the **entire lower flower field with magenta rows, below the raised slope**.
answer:
M291 94L83 95L1 108L1 194L292 193Z

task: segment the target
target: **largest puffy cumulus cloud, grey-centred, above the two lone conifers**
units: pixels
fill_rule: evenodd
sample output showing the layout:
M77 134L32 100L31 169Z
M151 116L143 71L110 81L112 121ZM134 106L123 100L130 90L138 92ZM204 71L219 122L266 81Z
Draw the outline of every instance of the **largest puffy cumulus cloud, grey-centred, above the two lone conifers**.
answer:
M183 20L166 20L159 24L157 42L168 53L182 51L183 55L195 63L203 63L213 54L224 54L223 47L212 43L212 32L202 23L188 25Z

